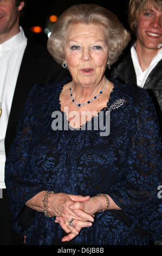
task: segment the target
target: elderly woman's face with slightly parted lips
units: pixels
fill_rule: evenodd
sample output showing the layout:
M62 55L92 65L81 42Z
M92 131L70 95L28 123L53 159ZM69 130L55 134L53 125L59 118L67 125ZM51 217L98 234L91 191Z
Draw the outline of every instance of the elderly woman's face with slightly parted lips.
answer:
M70 25L64 47L73 81L82 86L99 84L108 60L108 43L102 25Z

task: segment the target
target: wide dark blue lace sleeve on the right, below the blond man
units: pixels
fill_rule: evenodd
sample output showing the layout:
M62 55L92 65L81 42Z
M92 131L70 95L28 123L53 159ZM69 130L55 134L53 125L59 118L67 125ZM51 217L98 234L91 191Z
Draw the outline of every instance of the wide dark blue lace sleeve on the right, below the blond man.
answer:
M134 113L133 113L134 112ZM121 182L111 187L109 196L149 239L162 239L162 199L158 197L161 179L161 137L152 101L144 93L127 127L127 157L121 170Z

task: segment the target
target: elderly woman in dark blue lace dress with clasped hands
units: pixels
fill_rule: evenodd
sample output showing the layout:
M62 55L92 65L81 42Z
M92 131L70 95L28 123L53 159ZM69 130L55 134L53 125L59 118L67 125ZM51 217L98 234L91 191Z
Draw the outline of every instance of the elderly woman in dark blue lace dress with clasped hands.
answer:
M154 107L144 90L105 77L129 39L94 4L70 7L54 25L48 50L72 81L34 86L5 169L13 225L27 245L162 237Z

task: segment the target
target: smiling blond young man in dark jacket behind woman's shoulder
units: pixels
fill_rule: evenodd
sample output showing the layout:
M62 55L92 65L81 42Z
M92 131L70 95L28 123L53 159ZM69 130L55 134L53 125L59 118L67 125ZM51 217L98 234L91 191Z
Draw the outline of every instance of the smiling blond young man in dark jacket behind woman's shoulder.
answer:
M111 76L147 89L162 132L162 1L130 0L128 22L135 41L114 64Z

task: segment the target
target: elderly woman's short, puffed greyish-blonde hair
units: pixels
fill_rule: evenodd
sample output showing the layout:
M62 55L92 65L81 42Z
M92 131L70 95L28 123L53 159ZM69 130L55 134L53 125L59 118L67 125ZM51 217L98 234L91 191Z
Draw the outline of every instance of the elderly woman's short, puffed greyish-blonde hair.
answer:
M99 24L105 27L108 39L109 64L113 64L118 59L131 40L130 34L111 11L96 4L73 5L61 14L54 24L47 42L48 51L59 64L62 64L65 60L64 44L66 42L68 27L76 23L86 25Z

